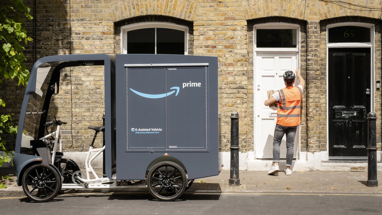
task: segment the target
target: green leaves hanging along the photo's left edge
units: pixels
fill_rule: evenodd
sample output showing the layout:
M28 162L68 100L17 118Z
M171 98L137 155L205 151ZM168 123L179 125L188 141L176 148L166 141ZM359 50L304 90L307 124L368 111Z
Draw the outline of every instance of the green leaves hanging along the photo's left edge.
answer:
M11 3L16 5L16 8L10 6ZM23 44L32 42L31 37L27 36L24 28L24 21L21 18L21 13L28 19L33 17L29 14L31 8L24 5L23 0L10 0L9 3L0 5L0 84L3 79L18 79L18 84L28 84L29 71L24 65L26 58L22 52ZM8 18L10 15L12 18ZM5 102L0 99L0 108L5 107ZM9 134L17 133L17 126L11 123L11 115L5 114L0 116L0 134L4 131ZM14 151L8 151L5 148L5 141L0 136L0 167L5 162L11 162ZM2 178L9 179L9 178ZM6 188L0 183L0 188Z

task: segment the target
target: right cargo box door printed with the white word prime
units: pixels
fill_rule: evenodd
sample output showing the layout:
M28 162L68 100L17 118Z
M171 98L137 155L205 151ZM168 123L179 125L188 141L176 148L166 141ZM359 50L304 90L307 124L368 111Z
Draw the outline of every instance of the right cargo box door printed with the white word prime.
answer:
M207 67L168 67L167 88L179 87L167 96L167 149L207 149Z

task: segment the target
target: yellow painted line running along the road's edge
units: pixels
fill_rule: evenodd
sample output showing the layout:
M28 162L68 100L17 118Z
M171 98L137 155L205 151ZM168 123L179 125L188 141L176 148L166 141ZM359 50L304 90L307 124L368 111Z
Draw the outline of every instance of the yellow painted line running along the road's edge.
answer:
M68 193L60 194L58 196L66 195L105 195L105 194L149 194L149 192L83 192L83 193ZM290 196L382 196L382 194L324 194L324 193L243 193L243 192L185 192L185 194L207 194L207 195L219 195L219 194L235 194L235 195L290 195ZM25 198L26 196L19 197L4 197L0 199L19 199Z

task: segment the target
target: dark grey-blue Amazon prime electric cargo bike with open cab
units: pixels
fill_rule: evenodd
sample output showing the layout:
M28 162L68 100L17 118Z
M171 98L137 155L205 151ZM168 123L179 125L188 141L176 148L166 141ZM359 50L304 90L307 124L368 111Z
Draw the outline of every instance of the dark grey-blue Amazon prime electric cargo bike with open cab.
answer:
M71 85L74 68L89 69L90 76L91 71L104 72L104 124L86 126L94 136L80 165L63 149L63 144L73 143L76 125L73 103L63 100L78 89ZM35 202L79 189L147 188L156 199L178 199L194 179L220 172L220 81L216 57L40 58L31 70L21 106L13 159L17 184ZM70 88L64 87L69 83ZM81 92L86 93L92 94ZM63 138L64 126L72 138ZM100 133L104 143L95 147ZM103 176L92 167L98 156L104 160Z

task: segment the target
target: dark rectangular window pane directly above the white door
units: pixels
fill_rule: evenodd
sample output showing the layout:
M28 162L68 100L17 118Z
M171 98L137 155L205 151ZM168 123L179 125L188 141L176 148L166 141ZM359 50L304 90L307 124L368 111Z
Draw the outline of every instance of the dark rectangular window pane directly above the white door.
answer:
M296 48L296 29L257 29L257 48Z

